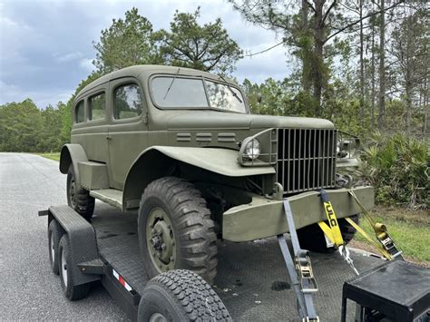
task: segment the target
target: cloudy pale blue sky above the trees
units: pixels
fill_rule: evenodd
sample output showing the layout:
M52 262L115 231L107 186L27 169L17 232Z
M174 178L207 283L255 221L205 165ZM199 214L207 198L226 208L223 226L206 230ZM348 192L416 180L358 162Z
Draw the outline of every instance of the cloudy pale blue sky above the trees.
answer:
M133 6L158 30L169 28L176 9L193 12L199 5L200 24L220 17L246 53L279 42L273 31L249 24L226 0L0 0L0 104L31 98L44 108L67 102L94 69L93 41ZM279 80L290 72L282 46L236 66L239 82Z

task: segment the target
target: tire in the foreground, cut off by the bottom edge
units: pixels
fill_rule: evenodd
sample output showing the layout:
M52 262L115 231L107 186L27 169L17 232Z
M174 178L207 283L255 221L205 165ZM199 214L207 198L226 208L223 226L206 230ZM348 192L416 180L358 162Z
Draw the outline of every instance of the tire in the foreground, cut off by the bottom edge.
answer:
M152 278L143 290L138 321L231 321L229 311L199 275L175 269Z

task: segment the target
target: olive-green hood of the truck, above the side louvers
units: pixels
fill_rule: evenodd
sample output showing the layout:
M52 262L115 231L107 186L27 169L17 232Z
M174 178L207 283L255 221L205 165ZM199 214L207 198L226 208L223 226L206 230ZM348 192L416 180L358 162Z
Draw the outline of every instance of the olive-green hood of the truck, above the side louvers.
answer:
M333 129L334 125L324 119L308 117L239 114L218 111L181 111L169 117L169 130L179 129Z

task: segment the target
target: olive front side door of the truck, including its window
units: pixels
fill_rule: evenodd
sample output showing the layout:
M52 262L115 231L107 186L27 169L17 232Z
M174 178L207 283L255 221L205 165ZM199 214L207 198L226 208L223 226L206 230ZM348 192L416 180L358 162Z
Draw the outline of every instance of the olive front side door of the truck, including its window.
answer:
M110 186L123 190L132 162L148 147L147 104L141 83L133 77L112 80L109 92Z

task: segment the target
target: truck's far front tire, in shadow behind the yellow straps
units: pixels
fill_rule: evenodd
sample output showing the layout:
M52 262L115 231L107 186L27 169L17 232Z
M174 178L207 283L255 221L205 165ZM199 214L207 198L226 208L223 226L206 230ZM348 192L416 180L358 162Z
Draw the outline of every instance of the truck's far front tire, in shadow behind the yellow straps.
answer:
M349 218L358 224L358 215L353 215ZM343 218L337 220L337 223L342 234L342 239L344 239L345 244L347 244L354 238L356 229ZM319 228L318 224L298 229L298 241L302 249L317 251L319 253L330 253L335 250L332 247L327 248L324 232Z

